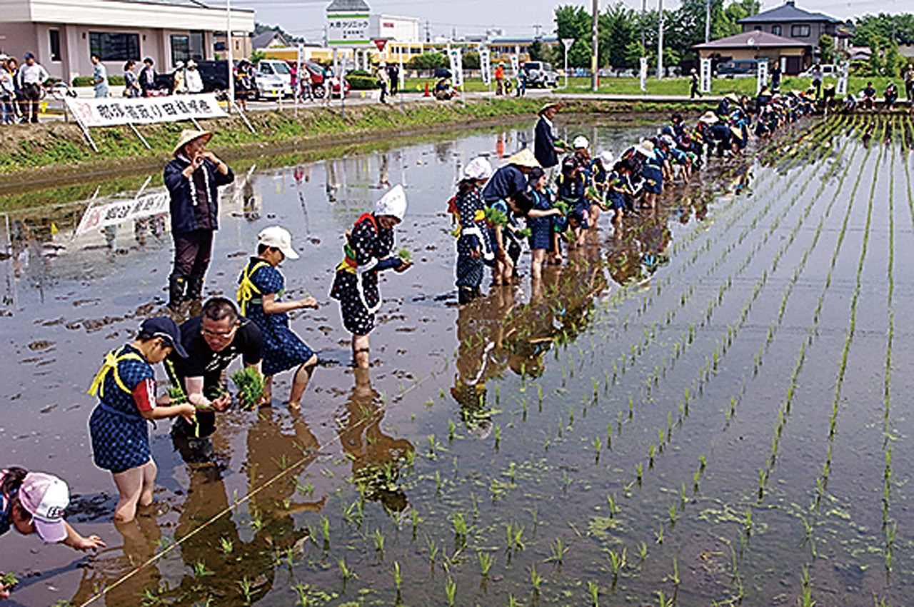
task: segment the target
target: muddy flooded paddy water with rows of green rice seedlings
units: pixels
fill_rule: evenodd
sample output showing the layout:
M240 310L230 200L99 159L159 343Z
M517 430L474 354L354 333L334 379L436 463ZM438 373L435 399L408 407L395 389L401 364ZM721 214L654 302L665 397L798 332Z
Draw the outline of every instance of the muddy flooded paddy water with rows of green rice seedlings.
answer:
M7 534L13 603L443 605L453 584L459 605L565 605L593 583L606 604L904 604L909 124L874 122L866 146L863 127L803 123L759 162L712 161L621 233L604 215L537 288L462 308L452 184L532 125L239 171L207 294L233 294L257 232L286 226L303 253L287 288L321 304L292 324L322 366L300 414L286 374L275 407L221 416L205 449L159 422L156 504L122 527L85 390L164 303L169 235L156 218L74 235L84 205L8 215L5 463L64 476L69 521L108 542L80 558ZM642 134L583 132L614 151ZM327 291L388 183L417 265L383 278L356 374Z

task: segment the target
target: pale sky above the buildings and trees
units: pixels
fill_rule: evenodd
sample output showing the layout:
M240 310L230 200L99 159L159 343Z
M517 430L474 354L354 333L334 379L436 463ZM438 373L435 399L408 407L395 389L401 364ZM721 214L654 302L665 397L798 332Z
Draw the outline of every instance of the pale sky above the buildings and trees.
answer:
M218 0L205 0L218 5ZM431 35L448 35L456 28L457 35L482 34L489 27L503 27L509 35L532 35L535 25L551 33L555 29L553 16L557 5L581 5L590 10L587 0L366 0L372 12L386 15L417 16L421 19L424 37L426 21ZM257 10L257 21L280 25L296 36L320 42L324 31L324 9L330 0L231 0L233 6ZM625 0L641 8L640 0ZM611 3L600 0L600 10ZM766 10L781 5L782 0L762 0ZM648 0L656 7L657 0ZM679 0L666 0L664 8L675 8ZM911 0L797 0L797 5L813 12L822 12L839 19L866 13L901 13L914 10Z

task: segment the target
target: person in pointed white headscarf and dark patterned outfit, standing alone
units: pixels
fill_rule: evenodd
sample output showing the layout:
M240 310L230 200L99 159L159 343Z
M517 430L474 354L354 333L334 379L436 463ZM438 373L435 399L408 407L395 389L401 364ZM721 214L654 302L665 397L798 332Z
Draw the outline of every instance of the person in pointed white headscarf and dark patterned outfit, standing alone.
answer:
M352 355L356 367L367 368L368 335L375 328L375 313L381 307L377 272L393 269L405 272L412 265L391 256L395 246L394 227L406 215L406 193L394 186L375 203L374 213L365 213L346 232L344 259L336 266L330 296L340 303L343 325L352 334Z

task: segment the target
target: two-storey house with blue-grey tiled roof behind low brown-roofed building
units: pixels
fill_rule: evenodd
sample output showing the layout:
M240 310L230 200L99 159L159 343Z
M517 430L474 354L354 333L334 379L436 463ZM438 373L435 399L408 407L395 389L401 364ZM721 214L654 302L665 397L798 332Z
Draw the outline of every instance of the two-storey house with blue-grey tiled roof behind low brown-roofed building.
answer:
M743 17L737 23L742 26L743 32L760 31L791 38L810 45L813 52L817 51L819 38L825 34L834 38L836 48L844 48L850 37L841 29L844 26L841 19L798 8L793 0L786 0L784 4L757 15Z

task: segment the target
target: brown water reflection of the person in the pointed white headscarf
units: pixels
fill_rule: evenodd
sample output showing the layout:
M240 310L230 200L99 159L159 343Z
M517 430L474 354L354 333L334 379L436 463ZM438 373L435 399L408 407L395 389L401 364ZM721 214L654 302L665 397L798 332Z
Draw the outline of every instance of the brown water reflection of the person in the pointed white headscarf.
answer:
M371 387L369 369L356 368L356 385L346 400L345 413L337 418L337 433L352 459L353 483L364 499L380 502L390 513L405 516L409 499L400 485L400 467L411 459L415 447L381 430L386 409Z

